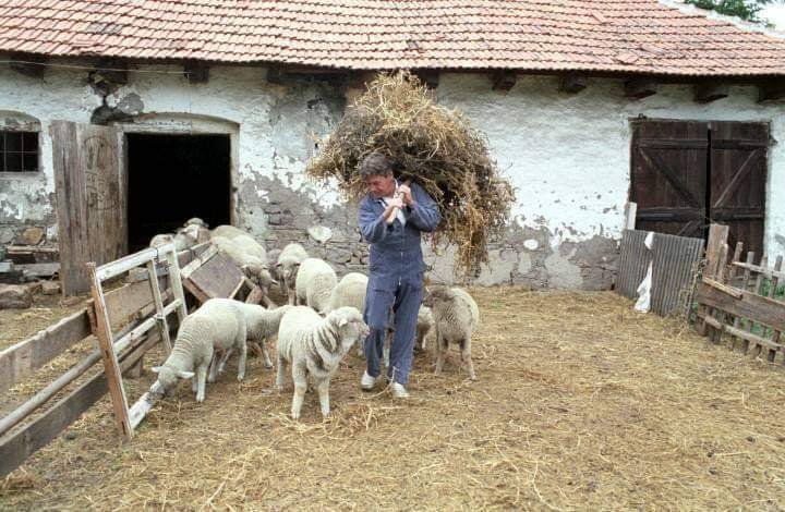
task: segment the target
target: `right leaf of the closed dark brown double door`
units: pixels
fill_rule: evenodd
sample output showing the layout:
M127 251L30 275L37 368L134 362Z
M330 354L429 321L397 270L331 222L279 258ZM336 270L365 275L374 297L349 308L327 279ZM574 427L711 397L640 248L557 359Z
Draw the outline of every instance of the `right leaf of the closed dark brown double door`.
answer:
M766 150L765 123L713 122L709 217L730 228L728 243L763 252Z

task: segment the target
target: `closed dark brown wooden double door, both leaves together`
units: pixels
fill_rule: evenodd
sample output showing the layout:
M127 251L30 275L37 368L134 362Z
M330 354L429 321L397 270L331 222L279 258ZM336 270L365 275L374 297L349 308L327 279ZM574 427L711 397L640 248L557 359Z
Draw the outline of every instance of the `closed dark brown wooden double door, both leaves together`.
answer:
M769 125L745 122L636 121L630 200L636 228L704 237L711 222L730 228L729 244L763 251Z

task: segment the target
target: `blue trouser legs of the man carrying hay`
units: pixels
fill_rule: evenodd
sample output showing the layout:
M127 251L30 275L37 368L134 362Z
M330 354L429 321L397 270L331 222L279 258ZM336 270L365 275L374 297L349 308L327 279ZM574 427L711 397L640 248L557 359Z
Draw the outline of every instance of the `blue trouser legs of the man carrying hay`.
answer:
M381 361L390 310L395 313L395 334L390 345L387 377L398 383L409 382L412 352L416 336L416 319L422 303L422 287L402 283L395 291L372 290L365 297L365 324L371 333L365 339L365 362L371 377L382 373Z

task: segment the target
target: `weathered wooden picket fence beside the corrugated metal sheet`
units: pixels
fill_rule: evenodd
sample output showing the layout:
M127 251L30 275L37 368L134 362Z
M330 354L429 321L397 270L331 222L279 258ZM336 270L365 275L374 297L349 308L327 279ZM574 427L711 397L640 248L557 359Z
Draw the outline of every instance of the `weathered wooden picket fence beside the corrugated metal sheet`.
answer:
M753 357L765 355L772 363L778 356L785 359L781 341L785 330L783 256L744 254L740 242L730 253L727 237L726 225L711 225L706 267L696 295L698 332Z

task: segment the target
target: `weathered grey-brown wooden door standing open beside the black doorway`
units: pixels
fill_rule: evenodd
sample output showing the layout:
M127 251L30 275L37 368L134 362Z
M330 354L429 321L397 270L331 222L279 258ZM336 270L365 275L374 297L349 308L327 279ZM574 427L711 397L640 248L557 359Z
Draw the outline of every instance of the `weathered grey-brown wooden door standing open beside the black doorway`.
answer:
M89 290L85 263L125 254L125 197L120 180L117 131L53 121L52 161L64 295Z

